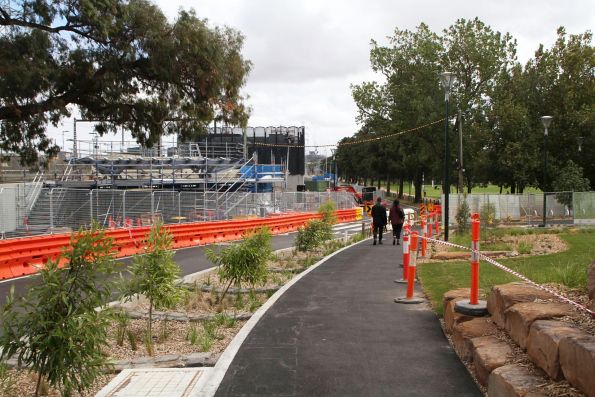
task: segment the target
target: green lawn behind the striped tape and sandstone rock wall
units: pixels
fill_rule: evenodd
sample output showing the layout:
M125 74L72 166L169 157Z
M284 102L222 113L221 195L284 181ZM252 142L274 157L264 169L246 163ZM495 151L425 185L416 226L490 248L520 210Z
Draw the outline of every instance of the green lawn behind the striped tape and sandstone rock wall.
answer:
M499 235L515 235L515 233L521 232L522 229L494 231ZM525 232L539 233L535 229L526 229ZM499 262L539 284L562 284L569 288L583 289L586 294L587 268L595 259L595 229L566 229L559 236L569 247L564 252L503 259ZM485 249L485 246L482 245L481 248ZM420 263L417 271L421 285L430 299L434 311L440 316L443 315L442 296L444 293L456 288L469 287L469 262ZM512 281L519 281L519 279L487 262L481 262L479 285L484 295L494 285Z

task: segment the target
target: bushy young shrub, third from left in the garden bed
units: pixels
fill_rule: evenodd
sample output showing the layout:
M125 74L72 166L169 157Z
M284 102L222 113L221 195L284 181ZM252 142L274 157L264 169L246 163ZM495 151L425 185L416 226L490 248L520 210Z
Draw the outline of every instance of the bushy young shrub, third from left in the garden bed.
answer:
M251 286L264 283L268 276L267 261L272 252L271 233L266 227L245 234L242 242L219 252L207 249L207 258L219 266L219 278L227 282L219 301L225 298L232 284L241 288L242 283Z

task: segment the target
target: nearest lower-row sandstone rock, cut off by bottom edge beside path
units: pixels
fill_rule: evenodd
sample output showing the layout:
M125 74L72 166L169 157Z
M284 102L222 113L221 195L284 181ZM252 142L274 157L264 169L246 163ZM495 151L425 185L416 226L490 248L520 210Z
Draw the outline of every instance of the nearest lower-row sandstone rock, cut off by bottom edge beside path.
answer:
M545 379L533 375L527 368L512 364L496 368L488 381L490 397L537 397L546 396L541 385Z

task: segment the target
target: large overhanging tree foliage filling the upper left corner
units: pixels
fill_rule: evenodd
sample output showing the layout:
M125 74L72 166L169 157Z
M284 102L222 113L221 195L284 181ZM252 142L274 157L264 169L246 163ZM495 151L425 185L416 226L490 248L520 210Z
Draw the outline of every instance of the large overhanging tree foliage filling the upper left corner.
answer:
M31 163L73 106L151 146L164 120L189 137L217 118L245 125L243 36L193 11L168 21L147 0L29 0L0 7L0 148Z

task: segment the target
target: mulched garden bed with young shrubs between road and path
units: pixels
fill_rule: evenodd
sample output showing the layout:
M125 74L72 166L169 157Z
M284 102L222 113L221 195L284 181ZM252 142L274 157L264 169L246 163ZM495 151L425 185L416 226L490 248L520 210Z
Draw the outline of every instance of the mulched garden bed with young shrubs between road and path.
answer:
M322 206L321 214L300 229L294 249L273 253L268 230L255 230L238 243L207 249L217 267L182 282L171 236L156 225L119 286L122 299L109 308L100 302L114 291L104 277L115 272L110 243L97 228L77 235L66 254L72 265L50 263L28 300L4 307L0 395L88 396L124 368L213 366L276 290L361 238L332 240L334 205ZM30 329L36 318L48 327Z

